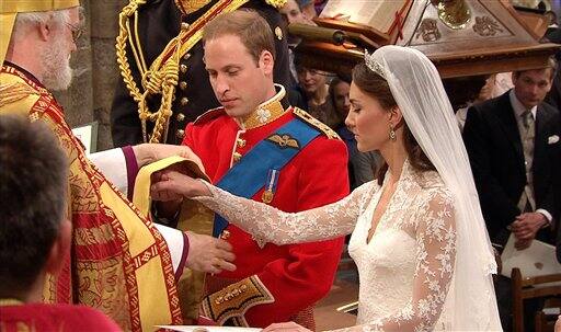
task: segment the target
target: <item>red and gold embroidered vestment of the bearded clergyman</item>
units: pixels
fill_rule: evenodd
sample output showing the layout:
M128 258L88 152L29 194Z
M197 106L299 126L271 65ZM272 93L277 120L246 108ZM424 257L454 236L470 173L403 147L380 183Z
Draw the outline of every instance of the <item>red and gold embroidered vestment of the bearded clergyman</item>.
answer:
M45 301L93 307L127 331L181 324L175 275L162 234L85 158L53 95L28 72L4 64L0 114L44 122L69 160L72 250L61 273L48 276Z

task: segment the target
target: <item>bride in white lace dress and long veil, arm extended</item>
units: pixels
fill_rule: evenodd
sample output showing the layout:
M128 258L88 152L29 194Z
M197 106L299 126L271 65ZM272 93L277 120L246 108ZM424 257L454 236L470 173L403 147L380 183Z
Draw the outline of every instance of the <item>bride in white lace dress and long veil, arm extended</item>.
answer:
M160 174L152 197L195 198L275 244L352 233L359 305L348 331L501 330L494 256L436 68L415 49L381 47L355 67L351 103L358 149L379 150L387 168L337 203L286 214L173 171Z

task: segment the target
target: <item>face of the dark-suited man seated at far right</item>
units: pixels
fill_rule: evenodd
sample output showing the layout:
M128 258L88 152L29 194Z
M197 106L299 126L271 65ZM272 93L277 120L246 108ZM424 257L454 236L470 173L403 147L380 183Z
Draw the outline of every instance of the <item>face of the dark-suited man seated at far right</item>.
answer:
M543 101L551 89L552 69L527 70L518 76L513 72L514 93L526 108Z

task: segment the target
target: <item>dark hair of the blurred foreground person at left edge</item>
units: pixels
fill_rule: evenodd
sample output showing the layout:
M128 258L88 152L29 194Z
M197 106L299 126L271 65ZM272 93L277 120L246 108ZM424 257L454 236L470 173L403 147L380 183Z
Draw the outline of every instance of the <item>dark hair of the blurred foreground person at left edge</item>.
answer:
M50 130L0 115L0 298L38 277L67 210L66 154Z

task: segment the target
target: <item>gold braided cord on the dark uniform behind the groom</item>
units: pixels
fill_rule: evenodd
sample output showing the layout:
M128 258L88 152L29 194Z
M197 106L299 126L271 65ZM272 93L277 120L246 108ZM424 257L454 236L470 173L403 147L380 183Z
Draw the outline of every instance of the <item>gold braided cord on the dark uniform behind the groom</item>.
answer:
M179 67L180 58L186 54L203 36L203 28L206 23L213 20L216 15L222 12L232 12L239 9L249 0L220 0L213 8L210 8L203 16L197 19L192 25L186 23L182 24L180 34L170 41L168 46L163 49L160 56L153 61L149 70L146 68L142 58L142 50L140 42L138 41L137 30L137 15L136 12L146 0L130 0L130 2L119 13L119 34L116 38L116 53L117 64L121 70L123 80L130 93L130 96L138 104L138 116L142 124L144 141L148 141L146 122L150 121L156 123L152 135L150 135L150 142L165 141L168 136L168 125L171 115L171 105L175 94L175 87L179 82ZM136 46L131 38L129 19L135 15L135 35ZM127 41L130 43L135 60L140 70L142 78L144 93L137 87L130 65L126 56ZM150 94L161 94L160 108L157 112L150 112L147 104L147 99Z

